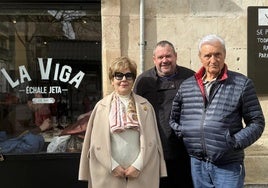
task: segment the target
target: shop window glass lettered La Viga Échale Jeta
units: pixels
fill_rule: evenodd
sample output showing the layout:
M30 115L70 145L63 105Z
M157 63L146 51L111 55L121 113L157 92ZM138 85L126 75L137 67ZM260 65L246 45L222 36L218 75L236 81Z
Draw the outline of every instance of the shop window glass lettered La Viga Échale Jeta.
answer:
M102 96L100 9L21 6L0 10L0 153L79 152Z

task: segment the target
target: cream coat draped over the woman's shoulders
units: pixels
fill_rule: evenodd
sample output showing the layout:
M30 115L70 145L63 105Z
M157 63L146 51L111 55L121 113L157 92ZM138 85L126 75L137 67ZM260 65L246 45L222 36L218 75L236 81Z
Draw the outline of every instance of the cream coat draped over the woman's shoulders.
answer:
M136 179L117 178L111 174L109 110L110 94L100 100L88 122L80 159L79 180L88 181L89 188L158 188L160 176L166 176L162 145L152 105L134 93L140 123L140 151L143 167Z

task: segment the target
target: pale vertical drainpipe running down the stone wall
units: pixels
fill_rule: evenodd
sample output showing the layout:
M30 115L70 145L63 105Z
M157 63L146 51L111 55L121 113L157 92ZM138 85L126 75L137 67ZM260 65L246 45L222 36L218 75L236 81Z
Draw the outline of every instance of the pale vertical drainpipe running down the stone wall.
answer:
M144 0L140 0L140 73L144 71Z

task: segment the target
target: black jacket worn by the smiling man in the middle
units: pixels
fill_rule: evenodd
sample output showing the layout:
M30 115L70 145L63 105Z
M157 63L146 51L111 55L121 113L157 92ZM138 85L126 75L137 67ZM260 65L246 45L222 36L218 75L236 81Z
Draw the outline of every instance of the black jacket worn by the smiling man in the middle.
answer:
M134 85L134 92L146 98L154 107L166 160L177 159L184 149L182 141L176 137L168 122L172 101L179 85L194 75L194 71L188 68L177 66L176 69L176 74L160 78L156 68L151 68L139 75Z

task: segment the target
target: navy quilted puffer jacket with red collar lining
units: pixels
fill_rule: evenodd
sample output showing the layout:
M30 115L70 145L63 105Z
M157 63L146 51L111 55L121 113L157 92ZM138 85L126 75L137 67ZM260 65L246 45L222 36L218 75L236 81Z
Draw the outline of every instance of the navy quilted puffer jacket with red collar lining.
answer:
M215 164L242 162L244 148L261 136L265 126L253 82L225 66L207 99L204 73L202 68L181 84L170 126L183 137L191 156Z

